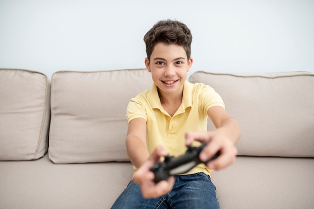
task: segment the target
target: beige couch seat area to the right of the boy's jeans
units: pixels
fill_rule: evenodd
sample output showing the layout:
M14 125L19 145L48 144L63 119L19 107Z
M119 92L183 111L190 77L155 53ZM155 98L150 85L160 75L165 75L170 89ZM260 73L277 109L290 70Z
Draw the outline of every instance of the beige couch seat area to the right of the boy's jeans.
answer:
M212 173L221 208L312 208L314 158L238 156Z

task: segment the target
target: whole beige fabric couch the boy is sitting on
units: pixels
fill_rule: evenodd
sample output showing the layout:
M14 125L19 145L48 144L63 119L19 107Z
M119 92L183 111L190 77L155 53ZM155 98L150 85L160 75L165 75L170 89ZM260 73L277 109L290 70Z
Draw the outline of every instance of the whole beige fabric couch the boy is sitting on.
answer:
M212 174L221 208L313 208L314 74L189 79L214 87L242 130L236 162ZM0 208L110 208L132 175L126 105L151 83L145 69L59 71L51 82L0 69Z

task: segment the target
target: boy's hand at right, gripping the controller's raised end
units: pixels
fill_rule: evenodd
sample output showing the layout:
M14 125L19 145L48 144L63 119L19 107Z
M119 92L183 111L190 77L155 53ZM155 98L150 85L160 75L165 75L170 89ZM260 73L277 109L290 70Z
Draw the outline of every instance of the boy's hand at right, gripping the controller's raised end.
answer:
M200 159L202 161L207 161L220 150L220 155L207 163L209 169L219 170L225 168L236 159L238 151L235 144L219 130L187 132L186 145L191 145L194 140L200 141L201 143L208 143L200 153Z

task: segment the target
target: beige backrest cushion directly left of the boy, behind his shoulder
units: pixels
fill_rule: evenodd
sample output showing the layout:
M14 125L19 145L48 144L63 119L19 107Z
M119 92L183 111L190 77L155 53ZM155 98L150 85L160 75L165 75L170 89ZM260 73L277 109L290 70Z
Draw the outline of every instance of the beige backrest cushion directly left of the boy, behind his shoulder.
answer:
M126 106L151 84L146 69L54 73L49 158L55 163L128 161Z

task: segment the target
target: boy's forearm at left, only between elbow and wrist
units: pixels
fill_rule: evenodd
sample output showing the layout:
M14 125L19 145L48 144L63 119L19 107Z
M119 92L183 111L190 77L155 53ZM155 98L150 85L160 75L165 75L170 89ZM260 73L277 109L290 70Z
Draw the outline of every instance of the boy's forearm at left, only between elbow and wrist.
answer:
M126 150L132 164L137 168L149 157L146 145L135 135L126 137Z

